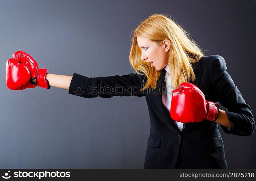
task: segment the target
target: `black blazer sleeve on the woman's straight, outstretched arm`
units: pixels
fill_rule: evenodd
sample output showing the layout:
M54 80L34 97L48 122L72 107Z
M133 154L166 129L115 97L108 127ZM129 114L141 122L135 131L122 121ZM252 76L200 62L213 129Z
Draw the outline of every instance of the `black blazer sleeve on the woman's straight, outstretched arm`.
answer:
M73 74L69 85L68 94L84 98L113 96L145 96L140 91L143 75L130 73L128 75L115 75L107 77L86 77L77 73Z

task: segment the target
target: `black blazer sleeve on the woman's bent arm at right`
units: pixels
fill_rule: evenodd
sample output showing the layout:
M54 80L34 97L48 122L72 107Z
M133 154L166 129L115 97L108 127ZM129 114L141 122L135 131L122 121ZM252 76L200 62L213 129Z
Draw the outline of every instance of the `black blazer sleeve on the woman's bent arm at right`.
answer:
M225 133L234 135L252 135L255 121L251 107L245 103L240 91L228 74L226 62L220 55L211 55L208 61L213 93L225 111L230 122L230 129L220 125Z

